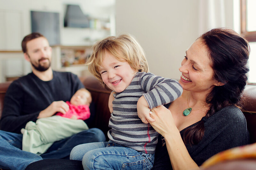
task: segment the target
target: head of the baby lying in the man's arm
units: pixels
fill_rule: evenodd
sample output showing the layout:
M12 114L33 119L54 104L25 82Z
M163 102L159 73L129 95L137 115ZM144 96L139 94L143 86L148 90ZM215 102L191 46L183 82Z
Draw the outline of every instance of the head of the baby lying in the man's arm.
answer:
M90 105L90 95L84 90L78 90L71 98L70 103L74 106Z

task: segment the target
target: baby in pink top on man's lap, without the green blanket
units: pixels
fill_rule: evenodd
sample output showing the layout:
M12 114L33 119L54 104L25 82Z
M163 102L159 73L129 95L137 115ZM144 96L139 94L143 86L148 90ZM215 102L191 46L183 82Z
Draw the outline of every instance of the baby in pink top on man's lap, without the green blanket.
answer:
M69 106L69 110L65 114L58 112L56 115L71 119L86 120L90 117L89 106L91 102L92 97L88 90L77 90L76 93L72 96L70 102L66 101Z

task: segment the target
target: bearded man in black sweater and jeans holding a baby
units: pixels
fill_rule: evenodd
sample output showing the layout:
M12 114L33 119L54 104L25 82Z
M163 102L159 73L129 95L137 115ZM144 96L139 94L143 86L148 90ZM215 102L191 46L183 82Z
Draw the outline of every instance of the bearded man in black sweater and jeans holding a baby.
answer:
M56 112L65 114L69 110L65 101L84 86L75 74L52 70L52 48L40 33L25 36L21 46L32 72L13 81L6 92L0 120L0 168L20 170L41 159L69 159L74 146L105 141L103 132L92 128L54 142L40 156L22 151L20 129L29 121L36 122Z

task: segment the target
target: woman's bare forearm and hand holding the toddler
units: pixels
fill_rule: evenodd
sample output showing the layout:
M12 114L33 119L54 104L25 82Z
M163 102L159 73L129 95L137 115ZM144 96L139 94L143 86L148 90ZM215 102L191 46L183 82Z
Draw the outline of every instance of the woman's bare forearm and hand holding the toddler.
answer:
M166 142L167 151L171 160L173 170L199 169L195 161L190 157L180 132L175 126L172 113L164 106L154 107L150 115L155 122L149 123L160 133Z

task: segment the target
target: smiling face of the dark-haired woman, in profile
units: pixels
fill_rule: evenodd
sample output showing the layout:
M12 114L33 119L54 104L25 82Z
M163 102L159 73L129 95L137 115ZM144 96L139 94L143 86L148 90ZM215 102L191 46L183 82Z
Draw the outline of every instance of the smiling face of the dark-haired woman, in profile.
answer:
M213 79L213 69L206 46L201 39L197 39L188 48L179 70L179 83L184 90L208 93L217 85L217 81Z

